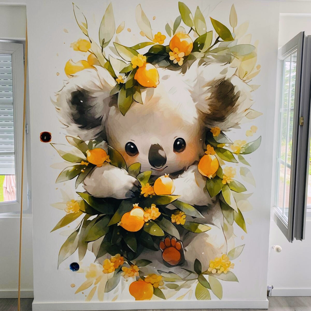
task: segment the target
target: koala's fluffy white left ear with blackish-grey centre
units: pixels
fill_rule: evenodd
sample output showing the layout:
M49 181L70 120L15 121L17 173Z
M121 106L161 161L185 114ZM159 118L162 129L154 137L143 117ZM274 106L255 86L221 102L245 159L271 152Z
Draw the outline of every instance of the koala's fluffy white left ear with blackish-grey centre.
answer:
M100 66L84 69L70 77L56 94L55 108L67 132L83 140L105 135L104 123L116 82Z

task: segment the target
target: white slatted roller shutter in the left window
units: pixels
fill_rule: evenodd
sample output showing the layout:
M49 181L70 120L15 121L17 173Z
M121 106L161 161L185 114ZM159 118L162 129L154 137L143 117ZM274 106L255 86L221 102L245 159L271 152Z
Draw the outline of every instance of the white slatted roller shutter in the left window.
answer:
M14 174L12 56L0 54L0 175Z

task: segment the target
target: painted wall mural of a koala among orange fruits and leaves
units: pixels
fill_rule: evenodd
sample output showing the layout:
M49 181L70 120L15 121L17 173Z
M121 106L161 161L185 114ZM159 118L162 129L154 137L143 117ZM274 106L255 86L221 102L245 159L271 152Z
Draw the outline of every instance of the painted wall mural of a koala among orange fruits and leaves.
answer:
M72 53L87 60L65 64L53 102L68 133L68 145L51 144L68 164L56 183L75 186L61 188L53 207L64 216L52 232L78 221L59 269L85 274L75 293L87 301L109 292L109 301L222 299L222 285L238 282L244 245L234 230L247 233L240 209L255 186L247 157L261 137L239 125L261 115L251 109L258 42L234 5L223 24L179 2L166 33L133 7L141 43L125 46L118 34L131 29L115 26L117 9L108 5L95 40L73 4L84 37L72 38ZM240 139L230 139L232 129ZM61 263L76 251L68 271Z

